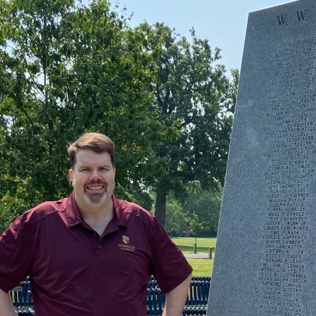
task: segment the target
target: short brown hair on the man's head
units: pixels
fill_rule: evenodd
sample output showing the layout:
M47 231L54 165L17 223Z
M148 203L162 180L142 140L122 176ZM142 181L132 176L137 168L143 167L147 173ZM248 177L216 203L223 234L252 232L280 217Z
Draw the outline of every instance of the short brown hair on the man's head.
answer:
M76 154L78 150L93 150L95 153L109 153L111 157L111 163L114 168L114 144L112 140L104 134L100 133L84 133L76 142L72 143L68 147L68 155L70 159L71 168L76 165Z

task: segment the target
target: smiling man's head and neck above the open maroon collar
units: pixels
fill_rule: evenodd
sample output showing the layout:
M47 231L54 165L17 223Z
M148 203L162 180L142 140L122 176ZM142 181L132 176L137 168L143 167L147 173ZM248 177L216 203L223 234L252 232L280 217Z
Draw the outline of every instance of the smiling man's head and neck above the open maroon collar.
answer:
M89 144L91 137L98 139L100 135L96 133L83 135L75 144L69 146L68 153L71 159L69 178L74 186L74 196L82 218L101 236L113 218L114 145L111 139L102 135L103 150L105 150L102 152L102 142L99 145L96 143L93 148ZM86 143L95 151L89 149Z

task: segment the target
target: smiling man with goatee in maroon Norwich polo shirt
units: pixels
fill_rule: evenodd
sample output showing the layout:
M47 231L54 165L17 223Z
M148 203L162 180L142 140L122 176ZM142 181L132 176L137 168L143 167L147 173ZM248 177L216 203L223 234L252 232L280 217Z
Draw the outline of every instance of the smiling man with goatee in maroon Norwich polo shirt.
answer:
M30 276L36 316L145 316L155 275L165 316L179 316L192 268L153 214L117 200L114 145L99 133L68 148L68 198L25 212L0 238L0 315L8 291Z

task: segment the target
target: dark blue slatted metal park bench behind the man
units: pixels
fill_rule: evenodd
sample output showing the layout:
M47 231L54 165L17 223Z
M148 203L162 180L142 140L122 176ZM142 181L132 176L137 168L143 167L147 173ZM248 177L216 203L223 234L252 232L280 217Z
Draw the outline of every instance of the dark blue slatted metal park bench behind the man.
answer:
M210 277L192 277L183 316L206 315L210 291ZM26 279L10 291L14 308L19 316L34 315L30 280ZM155 278L147 286L147 315L159 316L163 310L166 295L159 289Z

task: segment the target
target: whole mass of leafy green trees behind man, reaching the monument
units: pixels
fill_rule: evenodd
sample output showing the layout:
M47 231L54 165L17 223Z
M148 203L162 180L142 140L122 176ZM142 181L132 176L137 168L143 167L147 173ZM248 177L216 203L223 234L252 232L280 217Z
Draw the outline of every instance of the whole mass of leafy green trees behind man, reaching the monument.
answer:
M115 142L115 194L150 209L154 192L163 225L167 201L205 216L203 192L223 184L238 71L229 79L193 29L190 41L163 23L133 29L119 11L0 0L0 232L71 192L67 144L87 131Z

